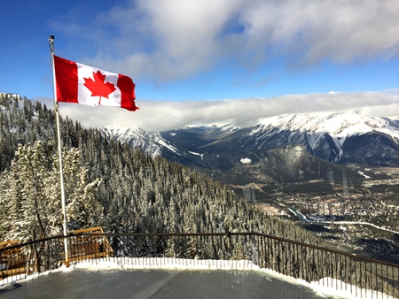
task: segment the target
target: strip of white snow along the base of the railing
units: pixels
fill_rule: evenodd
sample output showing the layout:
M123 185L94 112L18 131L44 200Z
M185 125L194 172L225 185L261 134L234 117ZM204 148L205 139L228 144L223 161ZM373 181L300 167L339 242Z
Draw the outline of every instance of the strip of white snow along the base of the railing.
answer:
M167 271L209 271L209 270L239 270L239 271L254 271L259 272L266 280L268 278L275 278L286 281L290 284L307 286L313 289L317 295L329 295L336 298L382 298L382 293L356 288L348 285L340 280L335 280L325 277L318 281L306 282L304 280L294 279L270 269L261 269L249 260L200 260L187 258L171 258L171 257L107 257L106 259L90 259L78 263L72 263L69 268L65 265L59 269L49 272L36 273L34 275L26 276L21 274L11 278L0 280L0 287L9 286L12 281L19 280L19 282L34 280L40 276L48 275L51 272L73 272L75 269L87 272L98 272L106 270L134 270L134 269L151 269L151 270L167 270ZM384 294L384 298L393 299L392 296Z

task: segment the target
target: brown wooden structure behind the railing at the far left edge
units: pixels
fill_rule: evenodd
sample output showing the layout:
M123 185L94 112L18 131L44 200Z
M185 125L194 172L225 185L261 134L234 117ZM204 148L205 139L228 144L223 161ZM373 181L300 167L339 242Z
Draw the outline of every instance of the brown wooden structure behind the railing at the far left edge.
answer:
M0 249L18 245L19 240L0 242ZM5 277L25 273L27 269L27 254L22 248L13 248L0 251L0 280Z

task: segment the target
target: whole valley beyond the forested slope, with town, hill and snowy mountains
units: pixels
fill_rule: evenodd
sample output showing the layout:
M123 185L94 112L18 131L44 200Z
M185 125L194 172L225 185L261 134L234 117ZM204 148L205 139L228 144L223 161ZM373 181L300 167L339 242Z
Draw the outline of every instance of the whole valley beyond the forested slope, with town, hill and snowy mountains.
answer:
M141 141L153 153L125 142L207 173L342 249L398 263L398 137L393 119L338 113L186 126Z

